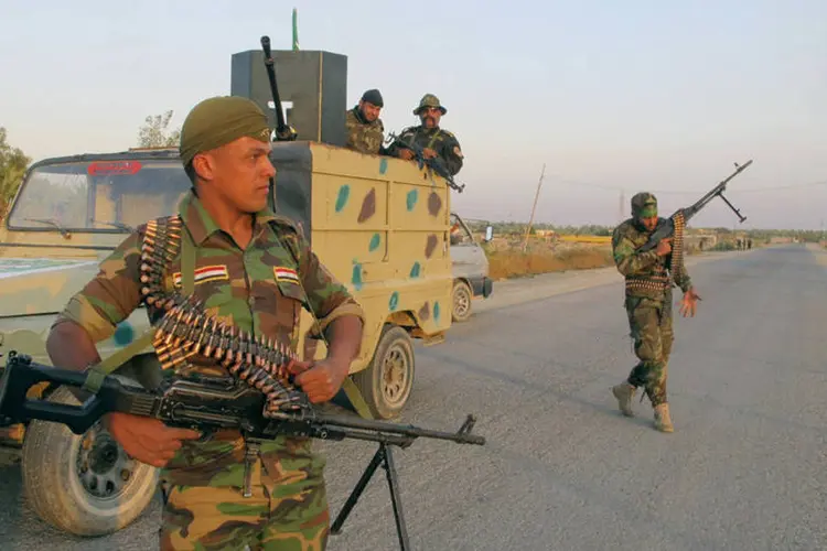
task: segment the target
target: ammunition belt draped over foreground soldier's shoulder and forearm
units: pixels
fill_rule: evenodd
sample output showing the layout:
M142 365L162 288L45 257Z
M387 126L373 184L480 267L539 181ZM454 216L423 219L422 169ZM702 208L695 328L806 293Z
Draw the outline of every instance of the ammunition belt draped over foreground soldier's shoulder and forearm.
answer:
M182 229L178 215L153 219L141 242L141 294L148 309L163 312L152 343L161 368L175 369L197 355L218 360L235 378L260 390L267 398L265 414L308 407L307 395L289 381L287 365L296 359L289 348L219 321L194 294L184 296L174 288L165 292L167 268L181 250Z

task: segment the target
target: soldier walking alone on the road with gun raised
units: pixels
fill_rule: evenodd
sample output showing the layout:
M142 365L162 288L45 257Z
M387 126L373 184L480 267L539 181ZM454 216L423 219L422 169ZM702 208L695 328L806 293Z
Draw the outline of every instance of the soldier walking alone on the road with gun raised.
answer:
M648 241L658 224L657 199L651 193L632 197L632 218L612 234L612 250L617 270L625 277L625 307L638 364L626 380L612 388L623 414L632 417L632 398L644 387L655 411L655 428L673 432L666 379L674 333L672 327L672 287L667 273L672 253L670 239L662 240L655 250L635 252ZM698 295L683 266L673 267L675 284L684 291L681 314L695 316Z

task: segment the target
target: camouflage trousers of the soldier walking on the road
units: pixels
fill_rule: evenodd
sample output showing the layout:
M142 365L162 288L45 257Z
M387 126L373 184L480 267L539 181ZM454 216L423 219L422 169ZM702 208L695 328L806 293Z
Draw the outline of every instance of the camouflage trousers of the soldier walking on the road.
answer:
M652 407L666 403L666 379L675 334L672 327L672 292L663 300L626 296L626 314L634 353L640 360L629 383L644 387Z

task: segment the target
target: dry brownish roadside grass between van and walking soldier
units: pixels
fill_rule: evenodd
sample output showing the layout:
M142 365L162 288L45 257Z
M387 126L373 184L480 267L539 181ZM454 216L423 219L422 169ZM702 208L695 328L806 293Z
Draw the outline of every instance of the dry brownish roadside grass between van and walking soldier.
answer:
M494 280L614 266L611 250L604 247L563 250L543 248L529 249L526 252L518 248L509 248L491 250L487 256L490 276Z

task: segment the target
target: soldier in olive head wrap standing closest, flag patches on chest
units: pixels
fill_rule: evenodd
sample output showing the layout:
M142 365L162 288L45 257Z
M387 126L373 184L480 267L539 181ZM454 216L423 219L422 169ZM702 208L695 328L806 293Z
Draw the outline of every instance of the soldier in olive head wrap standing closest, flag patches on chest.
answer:
M325 402L358 353L364 313L297 226L267 207L276 174L269 136L266 115L247 99L211 98L193 108L181 132L182 162L193 181L179 206L182 239L195 248L194 294L221 320L296 350L302 306L312 311L330 343L327 357L291 361L290 371L311 402ZM94 343L139 306L146 231L142 225L118 246L60 314L47 339L55 365L83 370L99 361ZM181 284L181 257L170 262L168 290ZM153 322L161 314L151 305L148 313ZM183 369L228 375L201 360ZM149 418L111 413L105 423L127 453L163 468L162 550L325 549L325 461L310 439L282 436L247 454L237 431L200 442L197 432ZM250 497L243 495L245 466L251 468Z

